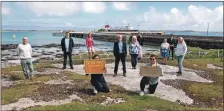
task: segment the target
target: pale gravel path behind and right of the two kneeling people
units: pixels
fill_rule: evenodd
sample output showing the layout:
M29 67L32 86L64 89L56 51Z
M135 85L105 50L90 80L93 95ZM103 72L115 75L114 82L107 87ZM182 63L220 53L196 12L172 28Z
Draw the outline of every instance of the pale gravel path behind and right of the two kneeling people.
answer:
M131 63L127 62L127 77L122 76L122 66L119 64L118 76L113 77L114 63L107 64L107 73L104 75L106 81L111 84L120 85L129 91L140 91L140 80L141 76L139 75L139 67L141 64L139 63L137 69L131 69ZM62 67L61 64L55 64L56 67ZM196 82L205 82L212 83L213 81L206 80L200 76L198 76L195 70L192 69L184 69L182 76L176 76L177 67L162 65L164 75L160 77L161 80L187 80L187 81L196 81ZM84 74L83 65L74 65L74 70L66 69L69 71L73 71L79 74ZM162 82L159 82L158 87L156 89L155 94L147 94L149 96L155 96L161 99L169 100L172 102L180 101L185 104L192 104L193 99L189 98L183 90L174 88L170 85L166 85Z

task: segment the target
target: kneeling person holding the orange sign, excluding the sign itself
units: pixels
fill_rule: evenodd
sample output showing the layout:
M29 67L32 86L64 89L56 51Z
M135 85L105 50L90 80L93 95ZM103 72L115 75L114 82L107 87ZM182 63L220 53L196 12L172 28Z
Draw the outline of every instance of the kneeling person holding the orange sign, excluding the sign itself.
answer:
M92 59L100 59L99 55L96 54L92 57ZM91 74L91 80L90 80L92 86L93 86L93 93L97 94L98 92L109 92L109 87L107 85L107 82L104 79L103 74Z

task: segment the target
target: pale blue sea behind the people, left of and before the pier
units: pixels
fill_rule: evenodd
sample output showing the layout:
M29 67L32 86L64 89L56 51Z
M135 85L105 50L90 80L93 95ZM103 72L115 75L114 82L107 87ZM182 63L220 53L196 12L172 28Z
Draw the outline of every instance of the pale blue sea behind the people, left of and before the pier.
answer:
M13 31L13 32L2 32L1 43L2 44L19 44L22 42L22 37L27 36L28 42L31 45L44 45L56 43L60 44L63 36L52 36L51 31ZM85 44L85 39L73 38L75 44ZM100 44L95 46L96 50L100 51L111 51L113 49L112 42L104 42L94 40L95 44ZM76 47L77 51L87 51L86 47ZM158 46L147 46L143 47L143 52L147 50L158 50Z

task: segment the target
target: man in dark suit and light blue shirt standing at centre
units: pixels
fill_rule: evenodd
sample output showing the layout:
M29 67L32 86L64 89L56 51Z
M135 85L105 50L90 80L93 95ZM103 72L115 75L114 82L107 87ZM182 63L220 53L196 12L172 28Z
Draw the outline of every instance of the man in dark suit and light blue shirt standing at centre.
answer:
M126 43L122 42L122 35L118 36L118 41L114 43L113 53L115 56L114 77L117 76L118 65L121 60L123 65L123 76L126 77L125 59L127 56Z

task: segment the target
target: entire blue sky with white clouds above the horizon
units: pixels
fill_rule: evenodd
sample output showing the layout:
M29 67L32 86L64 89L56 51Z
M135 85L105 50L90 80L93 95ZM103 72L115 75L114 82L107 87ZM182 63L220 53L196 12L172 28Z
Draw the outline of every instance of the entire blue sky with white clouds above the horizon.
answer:
M2 29L223 31L223 2L2 2Z

